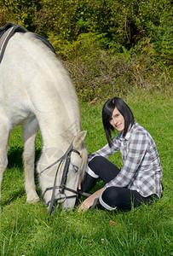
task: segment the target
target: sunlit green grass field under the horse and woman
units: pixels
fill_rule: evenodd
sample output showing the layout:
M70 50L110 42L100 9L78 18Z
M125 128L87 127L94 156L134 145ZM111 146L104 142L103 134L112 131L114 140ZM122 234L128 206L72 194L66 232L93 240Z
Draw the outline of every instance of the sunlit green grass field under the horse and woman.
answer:
M152 206L130 212L107 212L99 208L78 213L77 209L47 216L43 201L26 204L21 160L21 128L9 141L9 166L3 176L0 212L1 255L173 255L172 250L172 119L170 98L145 91L125 97L136 121L149 131L159 150L163 166L164 195ZM81 102L82 129L89 154L105 145L101 124L103 102ZM37 137L37 155L42 145ZM122 166L120 154L110 158ZM102 184L98 184L99 188ZM95 188L96 189L96 188ZM38 184L37 191L39 192Z

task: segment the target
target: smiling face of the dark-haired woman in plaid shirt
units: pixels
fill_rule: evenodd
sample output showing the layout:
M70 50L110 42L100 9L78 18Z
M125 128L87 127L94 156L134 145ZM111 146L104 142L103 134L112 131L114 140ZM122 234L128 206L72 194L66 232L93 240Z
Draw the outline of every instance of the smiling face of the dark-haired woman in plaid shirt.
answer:
M109 122L117 131L124 131L124 117L117 108L114 108Z

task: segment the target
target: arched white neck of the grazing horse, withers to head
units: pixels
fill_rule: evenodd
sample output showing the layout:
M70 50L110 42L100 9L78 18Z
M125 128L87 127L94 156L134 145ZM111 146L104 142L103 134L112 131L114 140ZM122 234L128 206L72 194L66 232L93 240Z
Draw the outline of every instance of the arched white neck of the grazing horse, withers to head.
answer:
M70 143L80 131L80 112L78 97L66 69L32 34L19 33L13 40L16 41L12 46L15 45L18 52L20 76L26 81L27 105L37 117L43 145L61 147L64 141ZM20 61L24 55L25 67Z

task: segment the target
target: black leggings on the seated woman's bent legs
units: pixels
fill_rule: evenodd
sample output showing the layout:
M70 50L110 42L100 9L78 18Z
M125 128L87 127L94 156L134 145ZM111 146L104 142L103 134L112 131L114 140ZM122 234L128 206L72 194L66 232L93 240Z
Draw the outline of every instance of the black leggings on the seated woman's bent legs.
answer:
M89 162L89 168L101 177L104 183L109 183L118 175L120 170L114 166L109 160L102 156L95 156ZM142 202L152 203L153 199L158 199L157 195L141 196L136 190L121 187L109 187L100 197L101 205L107 210L116 208L121 210L130 210L131 207L139 207Z

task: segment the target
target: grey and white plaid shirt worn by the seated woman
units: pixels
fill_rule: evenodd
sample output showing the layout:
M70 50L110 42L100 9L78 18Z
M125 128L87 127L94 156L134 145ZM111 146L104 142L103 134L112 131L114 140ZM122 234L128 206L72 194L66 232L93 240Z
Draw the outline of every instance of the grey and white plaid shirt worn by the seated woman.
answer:
M112 147L107 144L93 154L108 157L118 150L121 152L124 165L118 176L112 179L105 188L111 186L127 187L138 191L142 196L162 194L162 167L153 137L139 124L135 123L126 136L122 132L112 138Z

